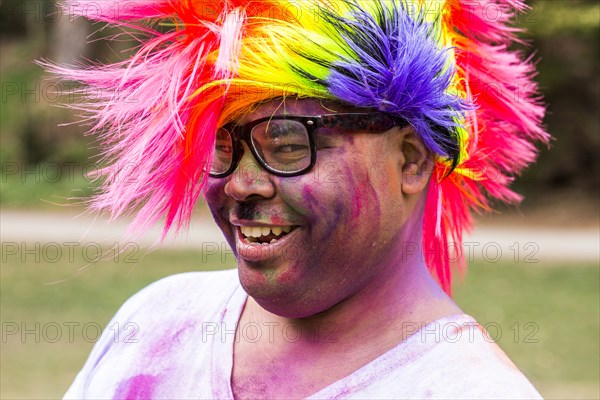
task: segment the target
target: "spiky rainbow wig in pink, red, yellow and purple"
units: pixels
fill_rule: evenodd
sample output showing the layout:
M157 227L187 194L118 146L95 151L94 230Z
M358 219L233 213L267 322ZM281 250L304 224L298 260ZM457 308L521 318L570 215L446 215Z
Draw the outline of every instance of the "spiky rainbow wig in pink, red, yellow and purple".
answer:
M73 15L137 32L111 65L45 64L92 94L104 145L95 210L143 230L185 227L217 128L257 102L337 100L406 119L435 166L425 205L427 265L446 292L471 210L516 202L513 176L548 142L535 68L510 46L520 0L67 0ZM490 12L490 10L492 10ZM133 31L132 31L133 30ZM460 264L460 261L458 262Z

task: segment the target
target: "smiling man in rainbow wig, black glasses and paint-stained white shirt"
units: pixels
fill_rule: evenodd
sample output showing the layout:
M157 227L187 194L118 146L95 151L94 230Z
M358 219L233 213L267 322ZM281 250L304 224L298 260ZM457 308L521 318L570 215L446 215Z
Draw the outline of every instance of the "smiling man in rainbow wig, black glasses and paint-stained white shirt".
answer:
M52 68L136 99L87 105L113 161L95 205L166 232L202 192L238 269L132 297L111 326L135 322L134 343L103 335L65 397L539 398L449 296L469 208L517 199L547 140L506 50L520 2L494 21L463 1L130 3L68 4L176 29Z

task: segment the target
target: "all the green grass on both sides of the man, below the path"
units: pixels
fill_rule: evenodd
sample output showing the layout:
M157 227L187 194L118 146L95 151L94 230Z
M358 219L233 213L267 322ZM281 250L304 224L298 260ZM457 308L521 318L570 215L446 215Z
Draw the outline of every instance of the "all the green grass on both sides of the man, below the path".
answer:
M141 250L128 251L115 262L114 252L105 249L104 261L87 264L81 251L75 251L73 260L64 253L60 262L50 263L54 254L42 254L36 262L35 254L8 255L2 250L3 399L62 396L93 346L94 327L104 327L118 307L147 284L178 272L234 266L230 256L203 260L194 251L145 256ZM127 257L139 262L125 263ZM595 265L475 264L465 283L455 287L455 297L482 324L501 329L498 343L542 395L594 398L599 374L598 283ZM25 340L8 334L14 324L21 330L21 324L35 329L36 323L39 343L33 334ZM55 343L44 340L44 327L46 339L55 335L53 325L47 325L52 323L62 329ZM69 323L79 323L72 342ZM526 328L527 323L533 325ZM89 326L88 340L84 324ZM537 327L535 333L532 327ZM495 335L492 328L490 333Z

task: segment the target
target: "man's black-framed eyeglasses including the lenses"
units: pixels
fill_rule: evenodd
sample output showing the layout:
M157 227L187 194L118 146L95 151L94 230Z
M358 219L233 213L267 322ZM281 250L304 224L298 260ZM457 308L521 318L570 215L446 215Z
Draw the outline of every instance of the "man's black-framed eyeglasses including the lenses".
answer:
M224 178L235 171L244 154L242 140L265 170L277 176L298 176L310 171L317 161L316 136L320 128L382 133L407 125L404 119L383 113L280 115L245 125L230 123L217 131L210 176Z

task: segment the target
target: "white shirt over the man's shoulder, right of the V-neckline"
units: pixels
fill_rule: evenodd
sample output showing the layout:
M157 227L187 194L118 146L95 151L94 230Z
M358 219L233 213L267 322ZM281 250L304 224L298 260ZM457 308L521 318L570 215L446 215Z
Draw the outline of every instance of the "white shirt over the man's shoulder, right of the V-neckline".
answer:
M475 319L449 315L311 399L541 399Z

